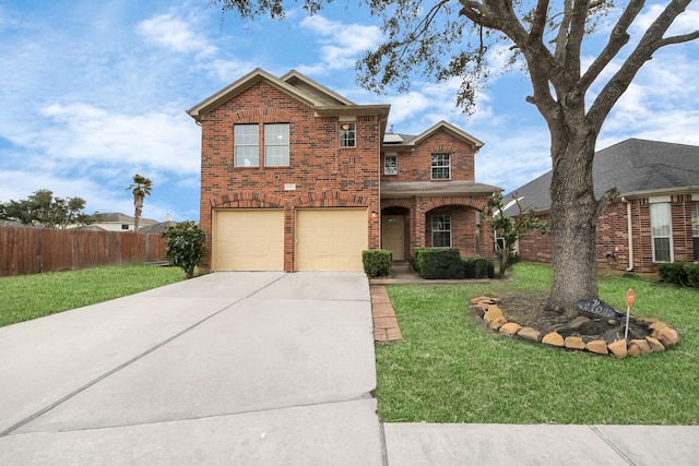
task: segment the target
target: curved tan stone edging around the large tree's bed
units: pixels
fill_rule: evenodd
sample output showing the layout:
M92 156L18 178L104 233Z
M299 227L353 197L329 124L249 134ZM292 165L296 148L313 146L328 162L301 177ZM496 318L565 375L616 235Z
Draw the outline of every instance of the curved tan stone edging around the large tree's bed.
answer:
M643 339L631 339L628 344L625 339L607 344L604 339L584 342L579 336L564 338L558 332L542 335L536 328L522 326L516 322L508 322L498 306L499 302L499 298L488 296L479 296L471 300L472 307L488 324L489 328L505 335L518 336L544 345L584 350L595 355L612 355L620 359L627 356L664 351L665 348L675 346L679 342L679 334L675 328L653 318L636 318L636 323L648 327L651 336L647 336Z

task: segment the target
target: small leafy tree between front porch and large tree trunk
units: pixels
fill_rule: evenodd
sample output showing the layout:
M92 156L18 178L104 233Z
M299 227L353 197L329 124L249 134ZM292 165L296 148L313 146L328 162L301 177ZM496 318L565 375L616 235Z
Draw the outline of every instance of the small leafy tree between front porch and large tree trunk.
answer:
M514 252L517 240L533 231L546 232L548 224L542 222L534 214L534 208L522 207L517 193L512 194L512 202L517 206L517 214L512 217L505 215L507 206L502 204L502 193L498 192L488 199L488 217L497 238L502 238L502 246L496 242L498 249L499 276L505 277L505 271L511 265L510 258Z

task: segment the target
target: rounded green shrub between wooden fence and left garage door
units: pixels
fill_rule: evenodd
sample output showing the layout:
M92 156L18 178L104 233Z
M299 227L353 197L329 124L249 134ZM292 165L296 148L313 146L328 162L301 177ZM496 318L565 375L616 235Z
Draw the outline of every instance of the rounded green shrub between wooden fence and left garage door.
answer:
M185 271L187 278L194 276L194 268L201 265L206 247L206 234L194 222L187 220L167 227L163 232L167 240L165 258Z

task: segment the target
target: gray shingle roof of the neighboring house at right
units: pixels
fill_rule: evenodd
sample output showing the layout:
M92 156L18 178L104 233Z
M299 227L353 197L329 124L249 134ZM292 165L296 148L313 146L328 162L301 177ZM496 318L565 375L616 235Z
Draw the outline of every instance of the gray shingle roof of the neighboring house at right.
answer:
M548 171L505 194L507 204L517 192L524 208L550 208ZM699 146L629 139L599 151L593 162L594 194L616 188L620 195L632 196L671 190L699 191ZM514 215L514 207L505 212Z

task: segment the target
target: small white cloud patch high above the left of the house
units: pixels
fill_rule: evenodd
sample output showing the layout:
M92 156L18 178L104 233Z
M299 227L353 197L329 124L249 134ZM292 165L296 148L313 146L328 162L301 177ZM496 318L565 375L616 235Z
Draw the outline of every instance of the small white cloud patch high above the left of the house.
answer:
M145 39L176 52L216 52L216 47L198 37L188 23L169 13L142 21L137 32Z

